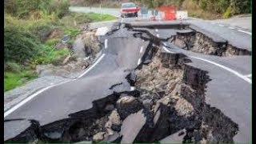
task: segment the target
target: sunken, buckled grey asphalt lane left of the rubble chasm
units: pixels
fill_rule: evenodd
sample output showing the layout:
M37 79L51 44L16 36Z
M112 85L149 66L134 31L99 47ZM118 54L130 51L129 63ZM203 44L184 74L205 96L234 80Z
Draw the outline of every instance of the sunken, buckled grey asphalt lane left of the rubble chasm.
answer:
M4 118L26 119L5 122L4 140L26 130L30 126L28 119L34 119L44 126L68 118L69 114L88 110L94 100L105 98L114 91L130 91L126 75L129 70L138 66L138 58L142 57L140 48L144 46L145 50L149 42L142 42L139 38L134 38L132 33L124 33L122 30L105 38L108 39L108 47L102 47L105 56L82 78L43 91ZM110 90L111 86L120 82L122 85L114 86L114 89Z

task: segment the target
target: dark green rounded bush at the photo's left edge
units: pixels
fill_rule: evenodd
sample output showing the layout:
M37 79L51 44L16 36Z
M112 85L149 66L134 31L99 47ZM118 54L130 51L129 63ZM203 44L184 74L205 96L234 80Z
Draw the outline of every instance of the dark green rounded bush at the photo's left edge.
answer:
M38 38L15 26L4 28L4 61L26 62L38 52Z

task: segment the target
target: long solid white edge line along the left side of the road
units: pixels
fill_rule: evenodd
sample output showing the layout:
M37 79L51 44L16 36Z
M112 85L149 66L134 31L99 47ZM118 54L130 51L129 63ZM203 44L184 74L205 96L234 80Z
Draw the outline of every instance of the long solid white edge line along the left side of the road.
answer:
M94 64L92 66L90 66L89 69L87 69L83 74L81 74L78 78L82 78L83 75L85 75L86 73L88 73L90 70L92 70L94 68L94 66L96 66L98 64L98 62L100 62L102 60L102 58L105 56L105 54L102 54L102 56L100 58L98 58L98 60L96 62L94 62ZM76 79L78 79L76 78ZM71 81L74 81L76 79L73 79L73 80L70 80L70 81L66 81L66 82L71 82ZM12 112L14 112L14 110L17 110L19 107L23 106L26 102L29 102L32 98L38 96L38 94L41 94L42 92L46 91L46 90L49 90L50 88L54 87L54 86L59 86L59 85L62 85L66 82L61 82L61 83L58 83L56 85L51 85L51 86L47 86L45 88L43 88L42 90L38 90L36 93L30 95L28 98L22 100L22 102L19 102L17 105L15 105L14 107L10 108L10 110L7 110L5 113L4 113L4 118L6 118L6 116L8 116L9 114L11 114Z

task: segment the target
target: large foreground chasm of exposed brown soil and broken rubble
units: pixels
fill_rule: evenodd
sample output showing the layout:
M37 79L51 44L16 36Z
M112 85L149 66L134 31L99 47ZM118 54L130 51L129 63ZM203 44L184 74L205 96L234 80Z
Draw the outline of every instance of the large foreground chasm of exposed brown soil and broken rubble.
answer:
M122 142L122 137L128 142L158 142L183 129L182 142L233 142L238 125L205 102L206 71L186 65L184 57L161 53L157 47L149 51L152 62L135 71L137 90L111 94L94 101L92 109L47 126L31 125L9 142ZM142 117L132 117L134 122L141 118L146 122L139 129L133 128L133 121L123 126L139 110ZM127 132L122 127L127 126L138 130L134 138L123 135Z

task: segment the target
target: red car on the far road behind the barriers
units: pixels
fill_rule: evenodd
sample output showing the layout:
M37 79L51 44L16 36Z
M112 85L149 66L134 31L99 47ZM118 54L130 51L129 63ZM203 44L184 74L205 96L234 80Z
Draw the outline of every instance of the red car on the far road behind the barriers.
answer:
M138 17L139 8L134 2L124 2L121 6L121 18Z

